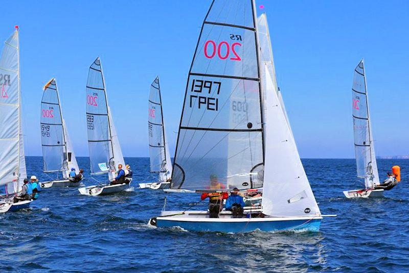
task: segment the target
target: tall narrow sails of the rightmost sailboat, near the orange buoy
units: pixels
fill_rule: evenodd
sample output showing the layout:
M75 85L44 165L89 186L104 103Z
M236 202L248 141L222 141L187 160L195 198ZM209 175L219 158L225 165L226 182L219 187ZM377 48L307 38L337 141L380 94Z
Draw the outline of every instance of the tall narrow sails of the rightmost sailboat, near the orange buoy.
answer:
M352 119L357 176L365 178L365 187L367 188L379 185L363 60L359 62L354 70Z

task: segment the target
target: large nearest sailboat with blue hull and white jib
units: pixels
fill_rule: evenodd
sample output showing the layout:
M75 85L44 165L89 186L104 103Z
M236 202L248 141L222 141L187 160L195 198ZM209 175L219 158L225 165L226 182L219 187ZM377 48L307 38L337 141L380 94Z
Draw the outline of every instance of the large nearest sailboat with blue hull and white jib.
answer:
M326 215L309 185L274 76L261 64L257 28L254 0L212 2L189 71L170 188L261 186L261 212L233 218L222 210L210 218L208 211L163 210L150 225L212 232L319 230ZM214 181L223 186L217 189Z

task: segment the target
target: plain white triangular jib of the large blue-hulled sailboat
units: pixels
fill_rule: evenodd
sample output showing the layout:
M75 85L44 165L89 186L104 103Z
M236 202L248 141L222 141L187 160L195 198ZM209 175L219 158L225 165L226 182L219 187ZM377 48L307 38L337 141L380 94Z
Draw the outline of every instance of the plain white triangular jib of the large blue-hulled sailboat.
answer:
M266 156L262 211L270 216L321 214L268 68L265 67Z

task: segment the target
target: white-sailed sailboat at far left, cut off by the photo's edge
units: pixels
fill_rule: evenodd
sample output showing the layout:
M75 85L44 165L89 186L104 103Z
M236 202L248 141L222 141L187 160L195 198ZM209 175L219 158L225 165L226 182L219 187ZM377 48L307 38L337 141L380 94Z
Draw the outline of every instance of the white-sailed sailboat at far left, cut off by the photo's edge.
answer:
M32 200L13 203L27 178L21 124L18 27L5 41L0 58L0 213L30 207Z

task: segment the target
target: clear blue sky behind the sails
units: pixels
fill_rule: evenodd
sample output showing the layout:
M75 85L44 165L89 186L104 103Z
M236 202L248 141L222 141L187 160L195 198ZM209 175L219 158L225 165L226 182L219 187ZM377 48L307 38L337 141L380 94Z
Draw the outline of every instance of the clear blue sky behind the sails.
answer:
M41 88L56 77L74 150L87 156L85 84L97 56L124 155L148 155L147 98L156 75L174 151L187 73L210 3L3 1L0 40L20 26L26 154L41 155ZM260 5L301 157L354 157L351 86L361 58L376 154L409 154L409 2L257 1Z

